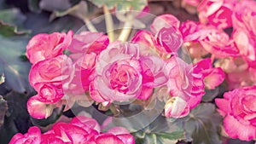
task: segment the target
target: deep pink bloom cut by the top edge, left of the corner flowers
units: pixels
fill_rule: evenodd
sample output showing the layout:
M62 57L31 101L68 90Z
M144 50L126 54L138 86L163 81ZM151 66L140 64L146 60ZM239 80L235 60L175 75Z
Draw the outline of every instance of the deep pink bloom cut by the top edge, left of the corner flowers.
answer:
M235 3L234 0L203 0L197 8L199 20L201 23L209 23L219 29L231 27Z

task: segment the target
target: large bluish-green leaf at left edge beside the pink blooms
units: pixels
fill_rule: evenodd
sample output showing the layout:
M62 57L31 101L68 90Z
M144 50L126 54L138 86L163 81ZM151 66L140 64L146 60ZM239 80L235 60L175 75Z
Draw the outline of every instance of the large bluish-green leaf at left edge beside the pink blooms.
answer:
M28 82L31 64L20 60L20 55L26 51L27 41L27 37L0 36L0 73L5 74L7 87L20 93L32 91Z

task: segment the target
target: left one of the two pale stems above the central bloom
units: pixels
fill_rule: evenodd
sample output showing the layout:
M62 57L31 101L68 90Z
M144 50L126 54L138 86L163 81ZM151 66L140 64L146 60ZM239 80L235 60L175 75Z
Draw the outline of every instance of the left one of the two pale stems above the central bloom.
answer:
M112 16L109 13L108 7L106 5L103 6L103 11L105 14L105 22L106 22L109 41L113 42L113 40L114 40L113 19L112 19Z

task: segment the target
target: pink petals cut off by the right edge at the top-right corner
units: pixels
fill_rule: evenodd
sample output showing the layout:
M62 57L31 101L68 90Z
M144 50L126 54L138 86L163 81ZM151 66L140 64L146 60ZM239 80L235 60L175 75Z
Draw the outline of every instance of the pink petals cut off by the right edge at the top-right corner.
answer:
M249 63L256 60L256 2L244 0L236 3L232 15L234 32L232 37L240 54L245 56Z

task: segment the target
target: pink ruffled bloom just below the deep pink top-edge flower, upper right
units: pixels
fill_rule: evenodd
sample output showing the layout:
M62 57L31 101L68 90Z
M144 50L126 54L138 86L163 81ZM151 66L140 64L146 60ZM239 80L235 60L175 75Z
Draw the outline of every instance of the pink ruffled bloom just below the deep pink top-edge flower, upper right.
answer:
M218 58L239 55L239 50L236 48L235 43L230 39L229 35L218 29L212 29L212 31L207 34L207 37L202 39L200 43L204 49Z

